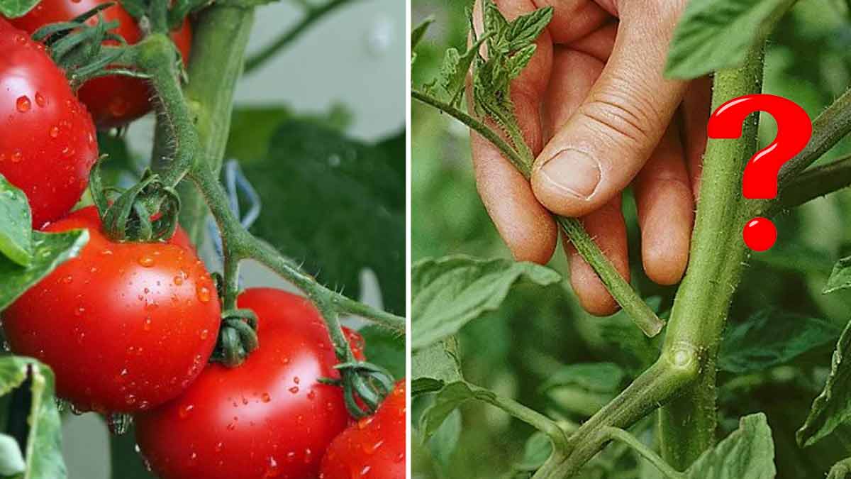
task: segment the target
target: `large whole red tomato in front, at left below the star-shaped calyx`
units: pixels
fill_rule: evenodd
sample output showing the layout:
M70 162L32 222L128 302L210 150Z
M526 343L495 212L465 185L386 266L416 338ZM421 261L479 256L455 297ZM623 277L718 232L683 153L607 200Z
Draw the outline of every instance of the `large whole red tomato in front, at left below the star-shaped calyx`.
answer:
M80 255L3 312L11 349L56 374L82 410L137 412L174 399L203 371L218 337L212 278L189 249L115 243L94 206L46 231L89 229Z

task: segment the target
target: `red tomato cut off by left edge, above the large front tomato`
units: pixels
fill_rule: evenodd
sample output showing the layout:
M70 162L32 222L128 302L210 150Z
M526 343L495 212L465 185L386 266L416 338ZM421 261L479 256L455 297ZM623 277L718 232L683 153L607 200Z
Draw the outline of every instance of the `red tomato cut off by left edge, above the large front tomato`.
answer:
M26 193L34 227L71 211L97 158L92 118L65 73L0 19L0 174Z

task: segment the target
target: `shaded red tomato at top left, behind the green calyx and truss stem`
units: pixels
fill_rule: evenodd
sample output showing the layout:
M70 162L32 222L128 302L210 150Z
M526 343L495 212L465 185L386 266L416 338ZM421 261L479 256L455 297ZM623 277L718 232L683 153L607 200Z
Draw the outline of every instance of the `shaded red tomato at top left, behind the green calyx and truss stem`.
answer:
M119 25L112 32L121 35L127 43L134 44L142 38L136 20L114 0L42 0L26 15L10 19L15 26L35 32L42 26L58 21L68 21L84 14L103 3L114 6L100 12L106 21L117 20ZM96 22L89 20L89 23ZM179 30L171 34L174 44L180 49L183 61L189 61L192 43L191 27L186 20ZM101 128L121 126L151 111L151 91L148 85L137 78L103 77L94 78L79 91L80 99L89 107L94 122Z

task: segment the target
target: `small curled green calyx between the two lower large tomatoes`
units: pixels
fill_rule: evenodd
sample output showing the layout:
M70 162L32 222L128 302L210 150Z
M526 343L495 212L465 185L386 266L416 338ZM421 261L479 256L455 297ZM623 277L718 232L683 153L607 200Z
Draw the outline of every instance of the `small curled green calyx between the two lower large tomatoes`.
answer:
M251 309L227 309L221 317L219 341L210 361L237 367L260 346L257 339L257 315Z

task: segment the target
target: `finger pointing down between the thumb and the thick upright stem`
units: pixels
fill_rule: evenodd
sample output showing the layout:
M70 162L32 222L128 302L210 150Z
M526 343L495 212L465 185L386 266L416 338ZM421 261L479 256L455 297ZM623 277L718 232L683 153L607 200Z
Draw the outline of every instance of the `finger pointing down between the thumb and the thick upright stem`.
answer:
M644 272L660 285L683 278L694 225L694 196L678 133L676 124L665 131L633 183Z

